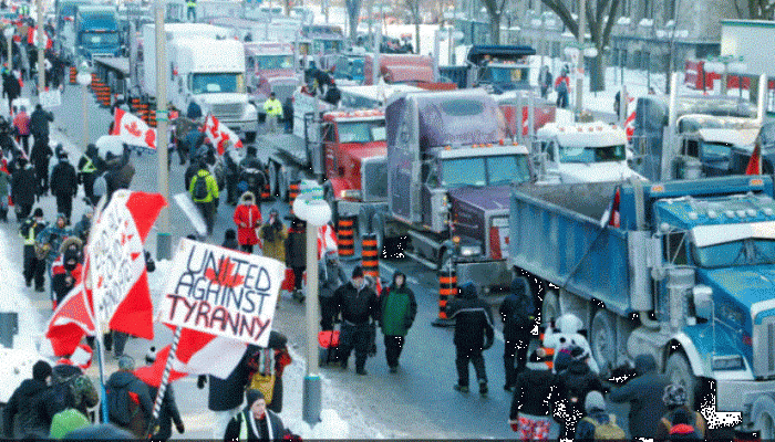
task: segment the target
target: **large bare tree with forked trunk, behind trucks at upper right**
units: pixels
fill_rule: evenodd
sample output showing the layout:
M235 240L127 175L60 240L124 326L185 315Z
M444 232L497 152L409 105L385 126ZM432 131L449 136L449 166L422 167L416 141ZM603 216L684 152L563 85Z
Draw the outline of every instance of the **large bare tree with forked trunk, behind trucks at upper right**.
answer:
M541 0L549 9L551 9L562 23L568 28L576 38L579 36L579 23L574 19L570 10L566 7L564 0ZM606 82L603 77L602 60L603 50L611 40L611 30L619 18L620 0L587 0L586 2L587 23L586 29L592 39L598 54L592 59L591 76L589 78L590 91L603 91Z

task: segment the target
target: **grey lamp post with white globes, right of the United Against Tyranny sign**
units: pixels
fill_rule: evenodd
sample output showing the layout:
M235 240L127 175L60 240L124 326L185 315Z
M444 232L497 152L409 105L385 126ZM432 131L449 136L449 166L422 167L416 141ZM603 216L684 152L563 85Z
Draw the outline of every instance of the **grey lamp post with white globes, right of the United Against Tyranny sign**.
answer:
M301 417L314 425L320 421L322 404L318 368L318 230L331 220L331 208L323 199L323 188L316 181L302 181L300 194L293 200L293 213L307 222L307 376Z

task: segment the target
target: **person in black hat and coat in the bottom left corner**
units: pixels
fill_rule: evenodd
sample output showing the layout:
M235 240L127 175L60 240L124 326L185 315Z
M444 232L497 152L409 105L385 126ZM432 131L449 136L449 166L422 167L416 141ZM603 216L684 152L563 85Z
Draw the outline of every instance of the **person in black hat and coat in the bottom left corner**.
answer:
M50 377L51 366L39 360L32 366L32 379L24 379L13 391L2 411L6 438L21 439L27 434L49 434L49 427L42 415L41 400L49 389Z

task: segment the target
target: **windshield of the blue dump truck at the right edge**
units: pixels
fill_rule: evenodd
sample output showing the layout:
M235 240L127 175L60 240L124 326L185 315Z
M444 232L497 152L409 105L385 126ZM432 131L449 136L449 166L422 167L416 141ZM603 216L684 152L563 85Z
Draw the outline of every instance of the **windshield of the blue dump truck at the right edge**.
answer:
M775 240L748 238L723 244L694 248L701 267L775 264Z

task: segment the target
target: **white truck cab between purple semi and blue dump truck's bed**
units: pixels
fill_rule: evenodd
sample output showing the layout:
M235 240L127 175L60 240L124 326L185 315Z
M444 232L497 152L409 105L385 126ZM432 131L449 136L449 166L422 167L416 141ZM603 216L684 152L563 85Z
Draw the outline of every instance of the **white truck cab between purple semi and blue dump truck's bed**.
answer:
M549 123L538 129L540 178L547 182L602 182L643 178L630 169L624 130L602 122L561 125Z

